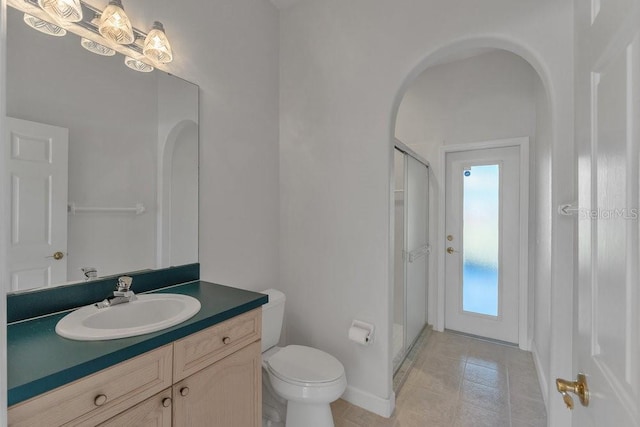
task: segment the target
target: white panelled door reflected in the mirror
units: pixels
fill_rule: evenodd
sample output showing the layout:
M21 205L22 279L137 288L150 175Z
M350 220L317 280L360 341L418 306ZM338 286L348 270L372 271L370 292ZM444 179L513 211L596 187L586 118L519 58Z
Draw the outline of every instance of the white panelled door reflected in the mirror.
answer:
M67 129L7 117L11 290L67 280Z

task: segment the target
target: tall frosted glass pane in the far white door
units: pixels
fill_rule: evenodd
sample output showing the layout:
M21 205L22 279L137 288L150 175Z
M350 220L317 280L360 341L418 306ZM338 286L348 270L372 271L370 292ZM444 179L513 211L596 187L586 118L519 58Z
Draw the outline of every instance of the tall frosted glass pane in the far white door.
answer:
M497 316L500 165L463 173L462 309Z

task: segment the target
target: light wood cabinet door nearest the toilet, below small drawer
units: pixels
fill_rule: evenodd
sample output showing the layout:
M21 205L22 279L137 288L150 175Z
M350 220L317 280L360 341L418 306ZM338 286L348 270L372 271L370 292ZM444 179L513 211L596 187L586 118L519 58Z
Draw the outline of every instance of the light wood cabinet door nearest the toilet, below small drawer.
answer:
M260 341L173 386L174 427L260 427Z

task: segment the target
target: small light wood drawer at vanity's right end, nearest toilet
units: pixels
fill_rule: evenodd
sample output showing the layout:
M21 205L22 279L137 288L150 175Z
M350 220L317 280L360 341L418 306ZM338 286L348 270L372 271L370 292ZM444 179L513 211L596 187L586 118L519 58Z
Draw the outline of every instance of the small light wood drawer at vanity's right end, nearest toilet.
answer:
M173 376L180 381L257 341L262 335L262 308L195 333L174 343Z

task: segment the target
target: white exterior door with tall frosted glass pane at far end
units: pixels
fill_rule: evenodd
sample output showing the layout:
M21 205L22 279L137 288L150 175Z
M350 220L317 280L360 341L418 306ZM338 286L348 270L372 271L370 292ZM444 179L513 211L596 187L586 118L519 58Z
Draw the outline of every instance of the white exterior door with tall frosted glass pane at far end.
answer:
M445 327L518 343L520 148L446 154Z

